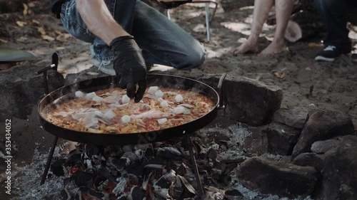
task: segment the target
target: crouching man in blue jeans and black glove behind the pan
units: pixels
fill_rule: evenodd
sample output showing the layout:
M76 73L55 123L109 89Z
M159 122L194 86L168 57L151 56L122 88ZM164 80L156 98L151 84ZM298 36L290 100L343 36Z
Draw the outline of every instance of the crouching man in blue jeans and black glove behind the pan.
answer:
M190 1L156 2L169 9ZM206 57L201 43L143 1L51 0L51 5L72 36L91 43L92 63L106 74L119 76L119 87L126 88L135 102L146 90L146 66L188 70Z

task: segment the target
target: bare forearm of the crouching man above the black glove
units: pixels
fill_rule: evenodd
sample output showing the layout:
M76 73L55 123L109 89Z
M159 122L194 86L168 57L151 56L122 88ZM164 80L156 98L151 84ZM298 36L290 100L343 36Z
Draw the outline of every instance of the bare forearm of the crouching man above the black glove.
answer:
M111 16L103 0L76 0L76 8L89 31L106 44L116 37L129 36Z

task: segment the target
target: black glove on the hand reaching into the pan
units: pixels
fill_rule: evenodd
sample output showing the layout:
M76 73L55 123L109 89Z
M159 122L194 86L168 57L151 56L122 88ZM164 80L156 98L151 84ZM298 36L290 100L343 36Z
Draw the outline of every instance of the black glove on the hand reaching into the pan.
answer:
M126 88L129 98L135 97L135 102L139 102L146 90L146 66L141 49L133 36L115 38L109 46L114 53L114 70L120 78L119 87ZM139 85L137 91L136 84Z

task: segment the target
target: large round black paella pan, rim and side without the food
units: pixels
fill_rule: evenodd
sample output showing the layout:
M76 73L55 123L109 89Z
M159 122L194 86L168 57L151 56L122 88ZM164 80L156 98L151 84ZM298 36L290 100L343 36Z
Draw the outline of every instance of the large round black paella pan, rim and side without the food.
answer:
M205 95L215 102L215 106L205 115L198 117L196 120L191 122L186 122L183 125L178 125L175 127L169 127L166 129L151 131L151 132L131 132L131 133L94 133L94 132L79 132L76 130L69 130L64 127L59 127L53 123L46 120L44 116L44 108L46 106L54 105L54 103L64 102L66 100L71 100L75 98L75 91L81 90L86 93L91 93L97 90L104 90L107 88L118 87L116 83L119 83L116 76L109 76L103 78L95 78L91 80L84 80L79 83L74 83L72 85L64 86L59 88L48 95L46 95L40 102L38 107L39 120L47 132L50 132L56 137L61 137L66 140L71 140L74 142L84 142L87 144L97 144L97 145L125 145L125 144L145 144L151 142L158 142L163 140L169 140L174 137L181 137L183 135L190 134L202 127L208 125L217 115L217 108L219 97L216 90L211 88L205 83L193 80L190 78L183 78L174 75L159 75L159 74L148 74L147 75L147 85L149 86L159 86L164 88L175 88L181 90L193 90L196 93Z

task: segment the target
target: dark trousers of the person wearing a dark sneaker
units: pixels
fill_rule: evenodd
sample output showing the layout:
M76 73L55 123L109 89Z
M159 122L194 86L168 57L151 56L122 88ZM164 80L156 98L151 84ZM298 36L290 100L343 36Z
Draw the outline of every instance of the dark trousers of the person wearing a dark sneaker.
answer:
M326 25L327 37L325 46L333 45L351 51L351 40L348 38L348 6L356 6L357 0L315 0L318 13Z

